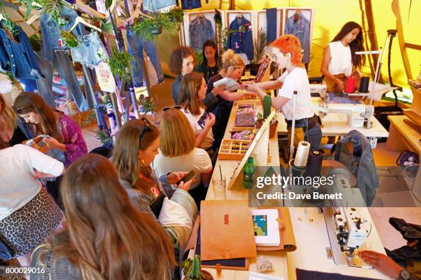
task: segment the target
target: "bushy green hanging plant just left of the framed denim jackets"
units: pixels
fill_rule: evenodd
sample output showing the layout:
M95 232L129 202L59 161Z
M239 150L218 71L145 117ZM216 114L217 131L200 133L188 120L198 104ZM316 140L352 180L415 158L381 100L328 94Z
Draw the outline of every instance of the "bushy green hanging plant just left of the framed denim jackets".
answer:
M145 41L156 40L155 35L162 31L167 32L168 36L175 35L178 32L178 23L171 21L168 14L155 13L149 14L151 17L143 17L141 21L136 21L131 30L136 32L140 38Z

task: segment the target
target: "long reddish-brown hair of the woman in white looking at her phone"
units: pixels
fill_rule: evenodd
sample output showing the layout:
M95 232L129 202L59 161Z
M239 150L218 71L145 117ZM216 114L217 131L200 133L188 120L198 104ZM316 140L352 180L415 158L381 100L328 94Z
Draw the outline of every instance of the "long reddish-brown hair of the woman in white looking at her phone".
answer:
M199 100L197 95L203 79L203 75L197 72L186 73L182 79L178 101L180 106L189 110L192 115L199 115L200 108L204 108L202 100Z

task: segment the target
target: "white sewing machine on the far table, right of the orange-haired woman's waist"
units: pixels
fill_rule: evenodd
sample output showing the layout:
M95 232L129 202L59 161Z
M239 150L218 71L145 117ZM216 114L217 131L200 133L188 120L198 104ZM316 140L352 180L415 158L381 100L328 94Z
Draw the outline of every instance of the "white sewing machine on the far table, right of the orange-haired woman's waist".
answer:
M352 128L371 128L371 117L374 106L366 104L325 104L319 106L319 117L323 119L328 113L345 113L348 126Z

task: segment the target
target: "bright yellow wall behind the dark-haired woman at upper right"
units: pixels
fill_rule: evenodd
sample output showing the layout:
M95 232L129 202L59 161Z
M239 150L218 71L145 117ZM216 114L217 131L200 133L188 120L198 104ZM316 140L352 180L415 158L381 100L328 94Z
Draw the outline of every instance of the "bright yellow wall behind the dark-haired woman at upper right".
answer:
M222 10L228 10L228 1L222 4ZM263 8L281 7L309 7L314 8L314 29L312 40L312 53L314 58L310 62L310 75L320 74L320 65L323 47L332 40L342 25L347 21L362 22L362 12L360 1L363 0L236 0L236 10L261 10ZM374 23L376 25L376 35L378 46L385 44L387 30L396 29L396 17L391 10L392 0L371 0L374 12ZM411 3L411 12L408 15L410 0L400 0L400 12L404 26L404 36L407 43L421 45L421 1L415 0ZM219 0L210 0L208 4L202 1L202 8L199 10L212 10L219 8ZM367 23L367 21L366 21ZM421 67L421 51L408 51L411 61L411 72L416 78ZM392 78L395 84L407 86L407 75L404 71L402 56L398 38L393 40L391 56ZM367 69L364 69L367 71ZM387 75L387 57L382 67L382 74L385 80Z

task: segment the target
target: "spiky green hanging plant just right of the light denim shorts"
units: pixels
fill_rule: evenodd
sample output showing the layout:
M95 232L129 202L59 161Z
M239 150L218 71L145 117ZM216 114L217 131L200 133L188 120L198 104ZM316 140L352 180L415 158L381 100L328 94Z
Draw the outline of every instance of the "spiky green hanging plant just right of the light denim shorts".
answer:
M130 82L131 68L136 67L136 62L131 55L124 51L120 52L116 47L113 47L109 57L109 67L111 72L120 78L121 82Z

